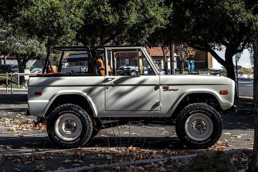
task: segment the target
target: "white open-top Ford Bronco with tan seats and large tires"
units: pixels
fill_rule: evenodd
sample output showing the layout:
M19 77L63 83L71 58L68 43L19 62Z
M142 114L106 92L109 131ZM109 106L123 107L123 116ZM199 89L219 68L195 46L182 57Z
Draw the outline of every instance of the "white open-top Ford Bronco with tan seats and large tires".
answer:
M51 51L60 52L58 67ZM236 108L234 89L226 77L162 75L143 45L50 47L42 74L29 77L26 115L65 148L128 123L175 125L184 145L207 148L221 136L220 115Z

